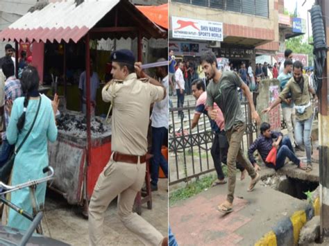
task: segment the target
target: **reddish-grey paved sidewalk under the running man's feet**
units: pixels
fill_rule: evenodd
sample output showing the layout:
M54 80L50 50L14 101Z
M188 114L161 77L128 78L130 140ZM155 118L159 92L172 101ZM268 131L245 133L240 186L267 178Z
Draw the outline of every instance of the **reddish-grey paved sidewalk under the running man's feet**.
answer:
M250 178L237 179L234 211L223 216L216 210L226 199L227 184L207 191L169 210L169 223L179 245L254 245L280 220L304 209L307 202L258 184L246 189Z

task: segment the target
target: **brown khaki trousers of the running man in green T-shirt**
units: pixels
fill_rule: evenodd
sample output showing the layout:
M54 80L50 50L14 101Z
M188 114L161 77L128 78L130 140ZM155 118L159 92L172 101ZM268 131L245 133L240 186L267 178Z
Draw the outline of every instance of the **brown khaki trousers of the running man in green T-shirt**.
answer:
M227 200L228 202L232 203L234 200L234 190L235 190L235 174L236 174L236 164L235 162L238 161L241 166L246 168L248 171L249 176L253 179L256 177L255 168L253 168L253 165L244 156L244 152L241 148L241 143L244 137L244 129L246 128L246 125L244 123L240 123L237 125L233 125L233 128L228 130L226 132L226 135L228 137L228 143L230 144L230 147L228 147L228 159L227 159L227 165L228 165L228 196Z

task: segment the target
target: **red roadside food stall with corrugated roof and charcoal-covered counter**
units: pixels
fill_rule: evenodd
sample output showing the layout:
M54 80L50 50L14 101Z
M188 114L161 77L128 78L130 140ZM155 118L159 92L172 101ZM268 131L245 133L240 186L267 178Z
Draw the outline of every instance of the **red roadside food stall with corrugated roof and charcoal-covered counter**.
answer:
M99 174L111 155L111 126L103 118L91 115L90 47L92 40L136 39L137 60L142 61L142 39L167 39L167 30L155 24L128 0L74 0L49 3L40 10L28 12L0 33L0 40L15 42L18 62L19 42L33 44L33 65L44 80L45 47L56 44L63 50L61 116L58 139L49 143L49 165L56 179L50 184L62 193L69 204L87 204ZM67 47L84 47L87 113L67 109L65 102L76 96L67 87ZM48 49L47 49L48 50ZM81 53L80 53L81 54ZM16 65L17 67L17 65ZM43 81L42 81L43 82ZM56 79L57 82L57 79Z

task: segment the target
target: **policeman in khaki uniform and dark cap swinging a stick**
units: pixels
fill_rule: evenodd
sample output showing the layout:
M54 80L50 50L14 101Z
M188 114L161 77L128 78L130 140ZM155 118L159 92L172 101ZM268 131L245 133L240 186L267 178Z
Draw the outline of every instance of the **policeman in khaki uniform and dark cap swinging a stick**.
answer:
M102 240L105 212L117 195L118 214L124 226L145 245L167 245L167 237L132 212L146 172L150 105L165 98L166 91L156 80L137 78L135 69L139 76L147 76L141 64L135 64L131 51L114 51L111 60L114 80L103 88L102 97L112 103L112 155L99 175L89 204L90 245L115 243Z

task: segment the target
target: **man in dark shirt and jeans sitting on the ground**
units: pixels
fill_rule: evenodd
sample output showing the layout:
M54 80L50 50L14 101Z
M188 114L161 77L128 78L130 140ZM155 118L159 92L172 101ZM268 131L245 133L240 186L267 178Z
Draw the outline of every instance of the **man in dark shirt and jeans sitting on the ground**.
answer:
M273 141L273 139L276 139L276 141ZM275 165L266 161L267 155L269 155L272 147L275 147L278 150ZM260 125L260 137L251 144L248 150L248 157L251 164L255 166L255 169L260 169L255 161L255 157L253 157L255 150L258 150L265 166L269 168L274 168L275 170L282 168L282 166L285 165L285 158L288 157L288 159L296 164L298 168L306 170L306 165L296 157L289 137L283 137L281 132L271 132L271 125L267 122L263 122Z

